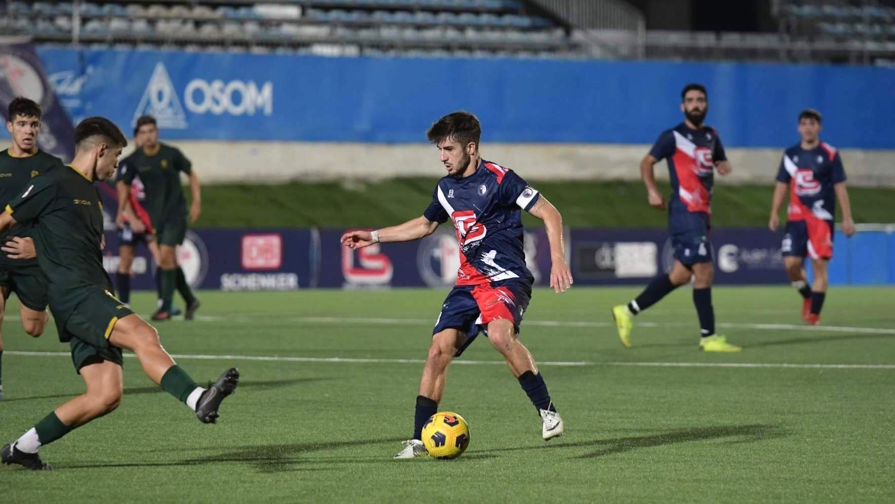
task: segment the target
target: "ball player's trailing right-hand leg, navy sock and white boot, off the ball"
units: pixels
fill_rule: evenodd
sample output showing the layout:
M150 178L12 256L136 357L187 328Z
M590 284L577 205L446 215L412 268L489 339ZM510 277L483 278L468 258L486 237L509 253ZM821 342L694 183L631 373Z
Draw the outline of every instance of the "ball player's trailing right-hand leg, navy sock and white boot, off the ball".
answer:
M561 436L565 424L559 416L556 406L550 399L547 384L534 363L531 352L519 341L516 326L512 320L491 320L488 324L488 340L500 355L507 360L510 372L519 380L519 385L532 400L532 404L541 415L541 436L550 440Z

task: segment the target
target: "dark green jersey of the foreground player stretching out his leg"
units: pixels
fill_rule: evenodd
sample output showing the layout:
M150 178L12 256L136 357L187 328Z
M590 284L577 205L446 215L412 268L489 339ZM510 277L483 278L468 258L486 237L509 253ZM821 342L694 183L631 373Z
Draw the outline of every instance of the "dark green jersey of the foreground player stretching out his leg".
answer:
M49 281L50 312L64 327L78 303L111 285L100 249L99 192L81 172L59 167L34 177L6 211L16 222L33 225L38 264Z

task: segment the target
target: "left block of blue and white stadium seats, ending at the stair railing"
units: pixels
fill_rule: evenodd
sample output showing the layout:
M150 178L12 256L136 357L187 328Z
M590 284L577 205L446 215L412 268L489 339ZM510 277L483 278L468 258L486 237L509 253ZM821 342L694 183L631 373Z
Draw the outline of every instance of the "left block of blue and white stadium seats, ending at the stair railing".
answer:
M38 42L241 47L251 51L556 56L566 27L519 0L124 0L7 4L5 24Z

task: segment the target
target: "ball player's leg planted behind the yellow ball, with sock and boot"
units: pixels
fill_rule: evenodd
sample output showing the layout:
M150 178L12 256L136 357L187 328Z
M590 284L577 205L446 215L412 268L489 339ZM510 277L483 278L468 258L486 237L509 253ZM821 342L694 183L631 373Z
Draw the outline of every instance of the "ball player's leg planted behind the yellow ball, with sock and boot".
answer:
M404 448L395 458L422 457L428 453L422 445L422 425L431 415L438 413L439 402L445 392L447 366L454 359L457 348L463 346L465 339L466 335L458 329L444 329L432 337L429 355L422 366L420 395L416 397L413 437L404 441Z

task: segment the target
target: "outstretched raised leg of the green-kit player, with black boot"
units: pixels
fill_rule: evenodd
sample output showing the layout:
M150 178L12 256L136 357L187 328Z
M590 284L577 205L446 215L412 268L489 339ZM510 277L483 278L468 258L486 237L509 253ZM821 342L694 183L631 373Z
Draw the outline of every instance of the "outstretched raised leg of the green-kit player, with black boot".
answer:
M136 354L149 380L189 406L202 423L217 421L221 401L233 393L239 382L239 370L231 368L209 389L200 388L161 346L156 329L134 313L115 322L109 342Z

